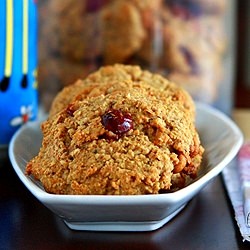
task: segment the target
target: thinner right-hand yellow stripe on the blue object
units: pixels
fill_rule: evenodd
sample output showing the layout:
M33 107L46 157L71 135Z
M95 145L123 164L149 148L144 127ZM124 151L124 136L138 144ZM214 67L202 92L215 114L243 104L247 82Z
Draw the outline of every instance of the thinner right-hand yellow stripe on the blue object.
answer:
M28 0L23 0L23 74L28 72Z

